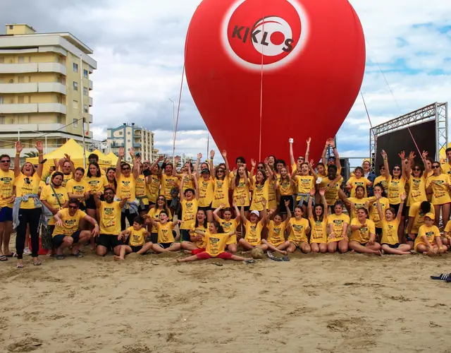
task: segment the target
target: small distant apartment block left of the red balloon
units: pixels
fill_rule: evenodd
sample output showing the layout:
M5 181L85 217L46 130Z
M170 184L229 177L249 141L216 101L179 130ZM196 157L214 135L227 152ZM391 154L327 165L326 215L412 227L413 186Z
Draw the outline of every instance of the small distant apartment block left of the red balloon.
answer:
M139 152L142 160L153 160L154 133L147 128L137 127L135 123L123 124L118 128L109 128L107 131L107 143L109 150L118 155L119 148L126 151L125 160L131 161L128 151L134 148Z

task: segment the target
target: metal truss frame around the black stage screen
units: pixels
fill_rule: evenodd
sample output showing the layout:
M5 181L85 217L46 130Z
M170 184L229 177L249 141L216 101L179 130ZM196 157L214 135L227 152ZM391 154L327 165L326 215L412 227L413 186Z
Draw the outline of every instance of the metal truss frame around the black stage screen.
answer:
M435 120L435 140L436 151L435 160L440 157L440 150L448 145L448 104L433 103L421 109L397 117L370 128L369 131L369 151L371 156L371 168L374 171L374 160L376 158L376 141L379 135L407 128L425 121Z

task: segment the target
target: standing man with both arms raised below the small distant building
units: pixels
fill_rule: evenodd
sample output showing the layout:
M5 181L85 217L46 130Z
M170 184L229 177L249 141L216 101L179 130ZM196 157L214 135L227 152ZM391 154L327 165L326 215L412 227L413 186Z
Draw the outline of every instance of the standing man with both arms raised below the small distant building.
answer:
M135 150L132 148L130 148L130 155L132 158L135 156ZM139 215L138 208L140 205L135 194L138 170L137 168L133 168L132 172L132 167L130 167L130 164L123 162L124 156L125 150L121 147L119 148L118 162L116 163L116 181L118 182L116 196L121 200L124 198L127 198L128 200L121 213L121 230L126 228L125 220L128 220L129 225L133 224L133 220L137 215Z

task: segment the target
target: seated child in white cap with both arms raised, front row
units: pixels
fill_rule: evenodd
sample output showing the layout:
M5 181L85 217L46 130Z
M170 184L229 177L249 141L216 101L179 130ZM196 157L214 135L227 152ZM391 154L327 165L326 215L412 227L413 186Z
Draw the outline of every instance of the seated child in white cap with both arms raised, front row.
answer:
M246 229L246 235L238 241L238 244L242 246L244 252L249 252L258 246L262 250L267 250L268 245L261 244L261 230L266 225L266 200L261 200L263 210L261 210L261 220L259 220L260 213L257 210L253 210L247 220L245 216L245 207L241 206L240 216L242 225Z

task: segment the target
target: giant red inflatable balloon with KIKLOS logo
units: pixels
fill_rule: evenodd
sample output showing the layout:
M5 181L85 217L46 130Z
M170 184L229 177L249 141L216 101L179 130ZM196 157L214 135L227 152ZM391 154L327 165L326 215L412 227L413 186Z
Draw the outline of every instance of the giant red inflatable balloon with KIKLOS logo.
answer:
M347 0L203 0L185 47L187 83L230 162L317 160L359 93L362 25ZM233 160L232 160L233 159Z

